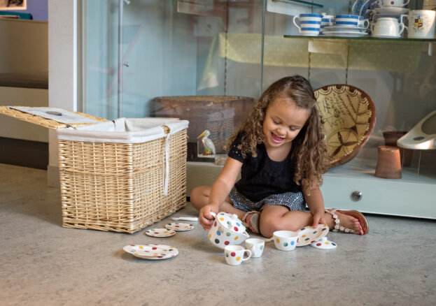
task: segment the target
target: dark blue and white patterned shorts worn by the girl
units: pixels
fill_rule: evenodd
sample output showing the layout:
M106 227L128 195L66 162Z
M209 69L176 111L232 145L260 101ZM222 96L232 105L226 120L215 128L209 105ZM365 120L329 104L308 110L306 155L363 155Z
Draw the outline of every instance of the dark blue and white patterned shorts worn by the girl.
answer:
M242 194L239 194L236 188L233 187L229 194L230 200L233 201L233 207L244 212L262 211L264 207L270 205L286 206L289 210L306 210L306 202L302 192L285 192L283 194L272 194L259 202L248 200Z

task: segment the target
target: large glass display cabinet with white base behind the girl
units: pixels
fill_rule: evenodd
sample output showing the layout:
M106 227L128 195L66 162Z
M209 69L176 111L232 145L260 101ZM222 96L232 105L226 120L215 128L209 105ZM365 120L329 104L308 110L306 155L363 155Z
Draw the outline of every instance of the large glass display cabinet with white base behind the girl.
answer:
M371 29L379 17L402 20L421 8L413 0L393 10L377 10L371 0L83 0L80 111L189 119L189 194L212 184L221 168L219 158L197 159L197 137L209 130L216 156L225 156L225 140L275 80L300 74L314 89L356 87L377 119L356 155L324 175L325 206L435 219L434 138L398 149L400 178L375 176L379 147L396 147L436 110L434 37L407 38L407 29L398 38L302 36L293 22L303 13L362 15ZM407 16L403 21L411 27ZM436 115L421 127L425 136L436 134Z

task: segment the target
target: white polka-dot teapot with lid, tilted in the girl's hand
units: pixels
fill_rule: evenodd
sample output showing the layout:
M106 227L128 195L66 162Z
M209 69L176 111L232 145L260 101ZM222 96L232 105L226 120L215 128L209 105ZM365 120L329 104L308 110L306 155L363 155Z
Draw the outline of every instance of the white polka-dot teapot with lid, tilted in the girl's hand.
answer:
M211 212L215 221L209 230L209 240L216 247L224 249L227 245L239 245L248 237L246 228L236 214L218 212L218 215Z

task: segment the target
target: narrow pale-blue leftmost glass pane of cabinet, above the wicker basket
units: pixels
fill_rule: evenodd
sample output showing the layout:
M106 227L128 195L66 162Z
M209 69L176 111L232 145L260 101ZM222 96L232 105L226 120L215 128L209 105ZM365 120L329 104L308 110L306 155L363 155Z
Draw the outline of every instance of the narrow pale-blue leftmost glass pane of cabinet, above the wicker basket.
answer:
M82 108L106 119L118 116L118 1L83 0Z

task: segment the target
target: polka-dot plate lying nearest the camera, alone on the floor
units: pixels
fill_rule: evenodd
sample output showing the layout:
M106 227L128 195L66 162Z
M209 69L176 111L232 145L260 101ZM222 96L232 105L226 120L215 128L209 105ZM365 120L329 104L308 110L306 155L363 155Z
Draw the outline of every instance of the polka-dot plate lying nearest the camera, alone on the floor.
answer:
M122 249L138 258L159 260L177 256L178 249L169 245L126 245Z

